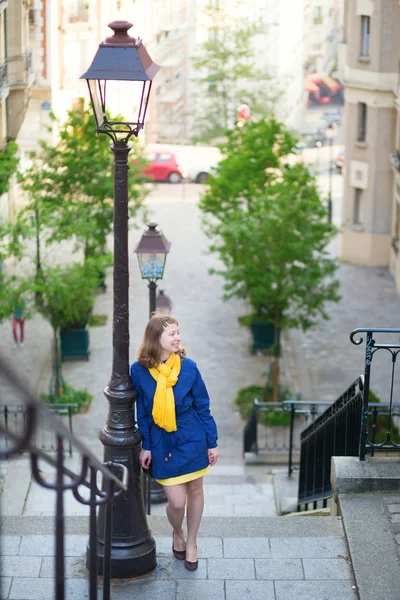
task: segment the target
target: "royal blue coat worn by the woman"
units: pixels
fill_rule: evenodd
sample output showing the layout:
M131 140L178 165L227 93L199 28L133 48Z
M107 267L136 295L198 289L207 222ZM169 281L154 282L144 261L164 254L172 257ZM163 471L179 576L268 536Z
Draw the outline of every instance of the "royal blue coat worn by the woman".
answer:
M195 362L184 358L175 396L177 431L168 433L151 424L156 381L138 362L131 367L137 421L143 436L142 447L151 451L153 477L168 479L208 466L208 449L217 446L217 427L210 414L210 398Z

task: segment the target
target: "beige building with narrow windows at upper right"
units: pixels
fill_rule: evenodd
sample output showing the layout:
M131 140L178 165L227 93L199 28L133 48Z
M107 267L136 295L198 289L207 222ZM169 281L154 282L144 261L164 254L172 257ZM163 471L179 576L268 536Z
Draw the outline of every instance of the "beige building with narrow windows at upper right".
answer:
M397 180L400 199L400 179L390 157L399 148L399 32L399 0L347 0L340 60L345 179L339 253L341 259L360 265L390 262L394 272L397 251L391 250L392 232L399 226L394 224L398 210L393 209L393 190Z

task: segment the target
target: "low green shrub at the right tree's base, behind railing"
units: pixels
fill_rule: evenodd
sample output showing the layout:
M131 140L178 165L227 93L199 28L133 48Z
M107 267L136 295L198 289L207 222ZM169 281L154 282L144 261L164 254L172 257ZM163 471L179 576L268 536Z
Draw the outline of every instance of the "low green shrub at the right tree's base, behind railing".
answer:
M250 417L254 406L254 400L257 399L259 402L272 402L272 394L272 386L269 384L266 386L249 385L248 387L241 388L236 395L235 404L239 409L242 419L247 420ZM279 388L280 402L283 403L286 400L290 400L291 397L292 394L288 388ZM282 404L282 410L279 412L273 407L268 411L260 411L259 423L262 425L287 427L290 424L289 409Z

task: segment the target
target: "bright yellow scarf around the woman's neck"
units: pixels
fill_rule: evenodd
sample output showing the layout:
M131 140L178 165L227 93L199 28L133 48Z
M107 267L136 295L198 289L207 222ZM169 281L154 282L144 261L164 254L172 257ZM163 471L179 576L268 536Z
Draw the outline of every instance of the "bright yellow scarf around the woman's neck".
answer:
M181 371L181 357L173 352L165 363L160 363L149 371L157 381L152 412L154 423L165 431L176 431L175 398L172 388Z

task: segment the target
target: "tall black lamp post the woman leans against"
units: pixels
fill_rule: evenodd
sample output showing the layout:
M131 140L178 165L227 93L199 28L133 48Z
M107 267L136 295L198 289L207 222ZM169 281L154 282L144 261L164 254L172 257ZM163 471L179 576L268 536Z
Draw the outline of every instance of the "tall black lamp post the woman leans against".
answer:
M141 40L128 35L131 23L114 21L109 27L114 34L100 44L81 79L88 84L97 133L111 138L114 154L113 359L111 378L104 390L109 412L99 438L105 462L122 463L129 472L127 492L113 502L111 577L122 578L142 575L156 566L155 541L147 526L142 499L141 435L134 417L136 396L129 374L128 140L143 129L152 79L159 67ZM130 94L132 105L137 106L133 121L112 120L106 112L106 101L112 96L116 81L125 82L126 94ZM105 510L104 506L99 509L99 573L104 553L110 550L104 547Z

